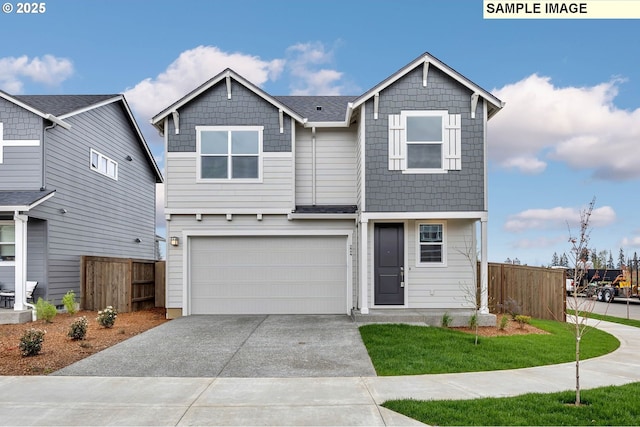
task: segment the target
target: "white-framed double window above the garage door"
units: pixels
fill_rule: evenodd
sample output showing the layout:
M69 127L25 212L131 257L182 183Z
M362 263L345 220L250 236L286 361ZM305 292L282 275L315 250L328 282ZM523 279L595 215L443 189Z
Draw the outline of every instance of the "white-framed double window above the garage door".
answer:
M262 177L262 126L196 126L198 179L256 181Z

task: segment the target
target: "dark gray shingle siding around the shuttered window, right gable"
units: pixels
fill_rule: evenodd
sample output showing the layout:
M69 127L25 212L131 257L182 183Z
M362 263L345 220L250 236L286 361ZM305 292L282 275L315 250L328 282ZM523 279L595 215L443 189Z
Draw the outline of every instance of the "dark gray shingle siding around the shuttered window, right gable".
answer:
M471 119L471 91L435 67L422 86L421 67L380 93L379 116L366 103L366 207L370 212L484 210L482 103ZM388 115L402 110L447 110L462 115L462 170L403 174L388 170Z

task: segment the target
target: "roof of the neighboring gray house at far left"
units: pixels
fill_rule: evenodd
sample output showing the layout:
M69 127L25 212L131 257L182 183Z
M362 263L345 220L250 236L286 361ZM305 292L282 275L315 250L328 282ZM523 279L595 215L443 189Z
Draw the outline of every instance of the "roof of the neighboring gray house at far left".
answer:
M138 123L133 117L131 108L124 95L9 95L6 92L0 91L0 97L31 111L45 120L56 123L65 129L71 128L71 124L64 121L66 118L107 104L120 103L129 124L136 134L142 151L146 154L146 160L153 170L156 183L163 182L160 168L138 127Z

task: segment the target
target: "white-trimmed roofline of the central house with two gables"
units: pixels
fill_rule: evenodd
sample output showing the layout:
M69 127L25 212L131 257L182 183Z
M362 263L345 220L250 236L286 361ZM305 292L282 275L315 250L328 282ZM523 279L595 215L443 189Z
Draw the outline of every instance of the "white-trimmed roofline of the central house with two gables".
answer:
M425 63L428 64L428 66L438 68L458 83L467 87L473 94L477 94L487 100L488 118L491 118L504 106L504 102L500 101L490 92L482 89L480 86L473 83L471 80L467 79L462 74L437 59L435 56L425 52L360 96L271 96L232 69L227 68L220 74L198 86L196 89L171 104L169 107L162 110L160 113L156 114L151 119L151 124L157 127L160 132L163 132L164 120L169 115L177 112L179 108L197 98L206 90L217 85L222 80L233 78L247 89L265 99L267 102L286 112L289 116L293 117L305 127L317 125L328 126L329 124L332 124L333 126L348 126L354 109L375 96L381 90L391 86L397 80L413 71L416 67L421 65L424 66Z

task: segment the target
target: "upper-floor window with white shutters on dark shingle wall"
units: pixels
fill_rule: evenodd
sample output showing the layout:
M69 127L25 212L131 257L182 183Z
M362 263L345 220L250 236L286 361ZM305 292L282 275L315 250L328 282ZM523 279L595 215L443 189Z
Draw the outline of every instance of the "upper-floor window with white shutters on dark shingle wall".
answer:
M461 169L461 115L411 110L389 115L389 170L444 173Z

